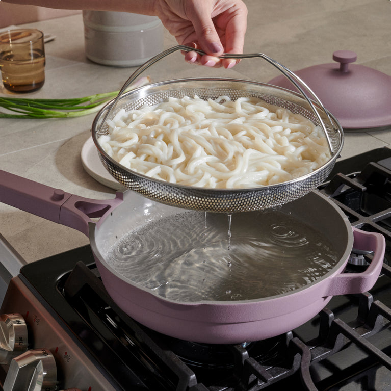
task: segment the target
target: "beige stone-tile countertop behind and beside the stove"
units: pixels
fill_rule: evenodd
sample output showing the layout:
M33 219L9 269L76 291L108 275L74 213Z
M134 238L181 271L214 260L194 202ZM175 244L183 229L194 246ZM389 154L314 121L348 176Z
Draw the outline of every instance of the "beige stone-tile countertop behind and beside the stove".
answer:
M357 53L357 64L391 75L389 0L247 0L246 53L265 53L291 70L332 62L335 50ZM46 81L29 98L81 97L119 90L136 68L116 68L86 59L81 15L23 24L56 36L45 45ZM176 45L165 32L165 48ZM165 59L149 73L165 77L227 75L267 82L279 71L260 59L243 60L233 70L210 70ZM179 61L178 61L179 59ZM223 73L226 72L226 73ZM159 79L160 78L160 79ZM11 95L5 89L0 96ZM390 108L391 110L391 108ZM94 114L69 119L1 119L1 169L94 199L114 196L115 190L93 179L83 168L81 151L90 137ZM391 127L347 131L341 159L388 146ZM89 243L83 233L0 204L0 234L27 261L41 259Z

